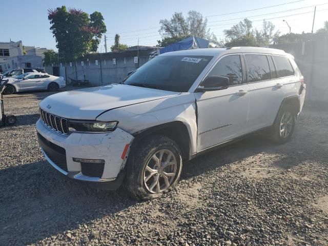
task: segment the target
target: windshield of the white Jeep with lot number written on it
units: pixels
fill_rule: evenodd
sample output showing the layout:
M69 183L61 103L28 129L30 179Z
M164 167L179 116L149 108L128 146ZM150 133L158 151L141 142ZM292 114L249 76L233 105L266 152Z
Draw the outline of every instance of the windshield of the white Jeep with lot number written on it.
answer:
M158 56L131 74L124 84L187 92L212 58L195 55Z

